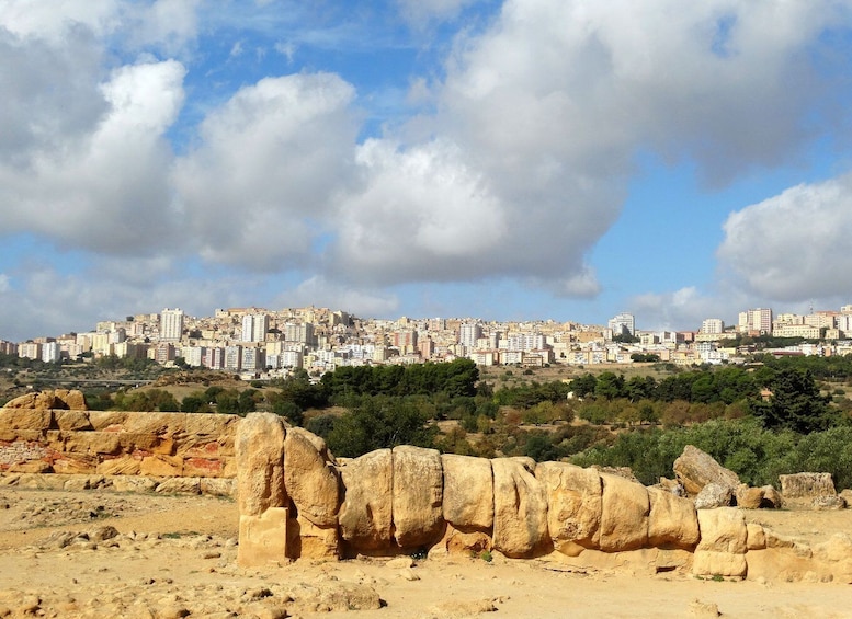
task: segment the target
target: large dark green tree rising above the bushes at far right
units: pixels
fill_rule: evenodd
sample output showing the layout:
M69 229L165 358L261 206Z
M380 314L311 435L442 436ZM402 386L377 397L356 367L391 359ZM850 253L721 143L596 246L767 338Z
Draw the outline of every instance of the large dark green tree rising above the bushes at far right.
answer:
M809 434L827 429L836 421L828 399L819 393L810 370L782 368L769 382L768 400L752 399L750 410L766 428Z

